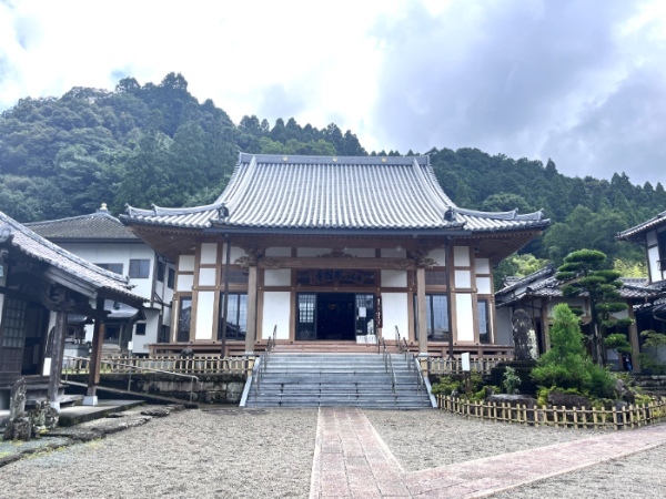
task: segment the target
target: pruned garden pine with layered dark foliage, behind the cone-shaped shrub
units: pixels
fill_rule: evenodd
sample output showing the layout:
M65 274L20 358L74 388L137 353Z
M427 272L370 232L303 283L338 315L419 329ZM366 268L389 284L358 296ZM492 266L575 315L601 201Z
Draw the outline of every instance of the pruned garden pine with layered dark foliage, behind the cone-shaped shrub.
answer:
M622 282L619 272L608 269L606 255L595 249L578 249L564 258L555 278L562 282L564 296L586 296L589 301L589 343L592 358L599 366L606 363L604 337L613 327L630 324L630 319L617 320L612 314L627 308L619 302ZM615 346L615 345L614 345Z

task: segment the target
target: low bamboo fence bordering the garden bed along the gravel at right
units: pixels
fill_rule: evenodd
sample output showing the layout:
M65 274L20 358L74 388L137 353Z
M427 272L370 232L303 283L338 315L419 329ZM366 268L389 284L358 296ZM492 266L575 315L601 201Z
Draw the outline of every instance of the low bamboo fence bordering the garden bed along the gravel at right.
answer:
M666 419L666 398L655 398L644 405L628 405L612 409L566 408L564 406L511 405L467 400L437 395L437 407L467 418L529 426L619 430L653 425Z

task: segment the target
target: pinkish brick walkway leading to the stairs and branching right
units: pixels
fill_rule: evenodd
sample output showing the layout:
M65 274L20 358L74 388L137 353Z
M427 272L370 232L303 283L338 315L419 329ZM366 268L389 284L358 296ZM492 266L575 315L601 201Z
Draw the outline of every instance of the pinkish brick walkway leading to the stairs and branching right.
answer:
M658 425L405 472L360 409L321 408L310 497L484 497L664 444Z

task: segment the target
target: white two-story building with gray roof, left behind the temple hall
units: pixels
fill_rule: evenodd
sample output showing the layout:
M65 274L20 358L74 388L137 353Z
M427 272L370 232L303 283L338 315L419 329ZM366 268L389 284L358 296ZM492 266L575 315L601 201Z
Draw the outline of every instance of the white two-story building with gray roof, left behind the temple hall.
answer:
M133 354L147 355L149 345L168 340L175 265L112 216L105 204L89 215L26 226L101 268L128 276L133 293L145 299L141 312L112 301L105 304L109 312L104 328L107 354L127 353L131 346ZM84 319L78 314L68 319L70 352L85 349L92 339L92 326L85 325ZM87 352L81 354L87 355Z

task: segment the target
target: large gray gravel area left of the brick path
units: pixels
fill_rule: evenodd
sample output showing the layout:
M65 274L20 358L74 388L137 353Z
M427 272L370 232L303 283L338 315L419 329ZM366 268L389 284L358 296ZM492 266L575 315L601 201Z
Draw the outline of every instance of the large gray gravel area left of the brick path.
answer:
M0 495L307 497L316 418L316 409L175 413L0 468Z

